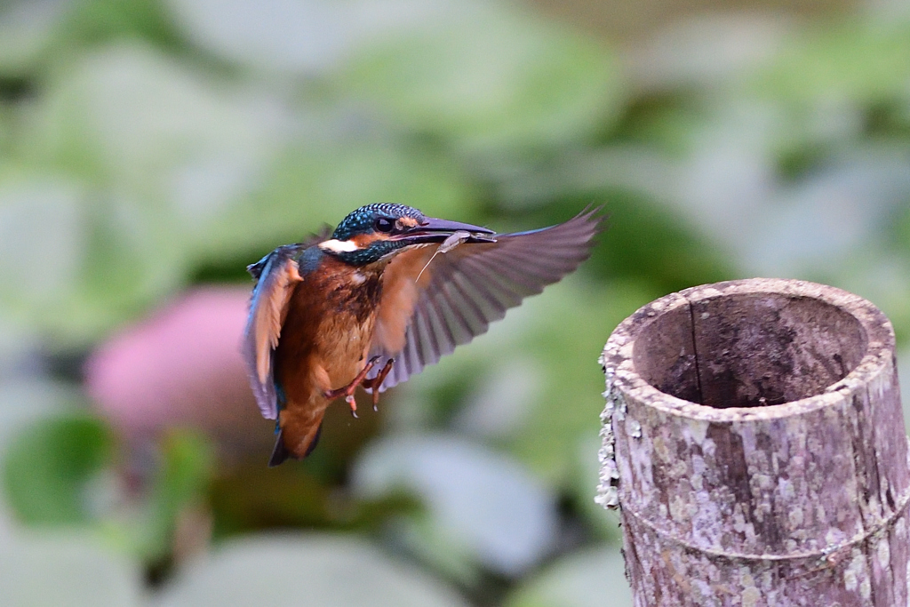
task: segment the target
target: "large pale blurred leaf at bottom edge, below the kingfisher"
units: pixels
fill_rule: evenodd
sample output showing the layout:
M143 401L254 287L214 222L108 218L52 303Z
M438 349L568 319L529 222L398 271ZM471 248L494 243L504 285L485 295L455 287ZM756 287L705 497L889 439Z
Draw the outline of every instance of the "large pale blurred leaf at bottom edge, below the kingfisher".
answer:
M248 537L190 566L153 607L466 607L455 593L345 536Z

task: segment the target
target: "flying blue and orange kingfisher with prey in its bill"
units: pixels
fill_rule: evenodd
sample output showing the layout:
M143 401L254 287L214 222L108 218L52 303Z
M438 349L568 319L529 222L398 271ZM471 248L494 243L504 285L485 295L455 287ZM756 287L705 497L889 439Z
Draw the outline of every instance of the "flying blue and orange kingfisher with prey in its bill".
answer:
M331 234L276 248L256 279L243 354L269 466L309 455L329 403L379 393L484 333L506 309L591 254L598 208L550 228L496 234L399 204L359 207Z

